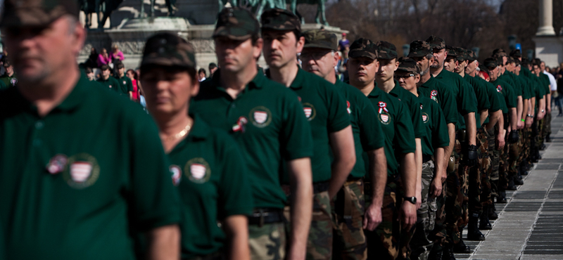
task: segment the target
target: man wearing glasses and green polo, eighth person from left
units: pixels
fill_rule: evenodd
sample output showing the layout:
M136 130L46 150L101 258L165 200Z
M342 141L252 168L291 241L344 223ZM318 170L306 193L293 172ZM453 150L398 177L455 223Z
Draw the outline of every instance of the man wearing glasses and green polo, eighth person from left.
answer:
M436 221L436 197L442 193L445 180L444 148L450 144L448 126L443 112L430 98L420 96L417 84L420 81L420 68L411 58L401 58L396 71L396 78L401 87L410 91L421 102L422 122L426 135L422 137L422 204L417 210L417 229L410 240L412 254L407 259L428 259L434 239L430 232ZM434 158L434 159L433 159Z

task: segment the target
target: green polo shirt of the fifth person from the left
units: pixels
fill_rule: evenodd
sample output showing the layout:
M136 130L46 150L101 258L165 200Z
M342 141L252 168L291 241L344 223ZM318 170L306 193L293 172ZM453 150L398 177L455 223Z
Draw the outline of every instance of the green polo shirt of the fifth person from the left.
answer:
M354 134L354 145L356 150L356 164L350 172L350 176L361 178L365 176L367 170L366 162L362 156L363 152L376 150L385 145L384 134L381 131L381 122L377 119L377 114L362 91L339 80L336 81L343 98L346 99L350 124ZM367 162L369 164L369 162Z

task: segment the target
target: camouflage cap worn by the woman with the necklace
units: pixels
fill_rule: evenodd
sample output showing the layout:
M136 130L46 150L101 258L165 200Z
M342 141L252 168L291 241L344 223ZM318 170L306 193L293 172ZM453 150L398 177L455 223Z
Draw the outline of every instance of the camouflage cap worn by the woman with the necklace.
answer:
M194 46L170 32L161 32L146 40L141 67L144 65L196 67Z

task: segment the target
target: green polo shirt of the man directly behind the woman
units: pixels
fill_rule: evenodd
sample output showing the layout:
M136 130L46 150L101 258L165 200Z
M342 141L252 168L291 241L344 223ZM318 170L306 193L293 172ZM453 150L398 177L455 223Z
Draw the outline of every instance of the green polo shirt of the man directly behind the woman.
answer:
M293 91L260 73L233 99L220 86L219 73L202 83L190 111L210 126L228 131L239 143L254 206L281 209L286 202L280 184L284 160L313 154L303 106Z

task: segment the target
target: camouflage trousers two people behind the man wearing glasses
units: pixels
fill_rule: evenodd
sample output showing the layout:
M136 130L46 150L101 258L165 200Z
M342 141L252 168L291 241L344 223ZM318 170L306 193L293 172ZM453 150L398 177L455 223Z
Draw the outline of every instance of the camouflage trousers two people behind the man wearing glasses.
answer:
M454 145L455 150L455 171L453 174L448 174L446 179L446 186L448 186L445 195L445 230L446 240L448 243L457 244L460 242L461 233L458 228L459 221L463 221L464 212L467 212L467 204L464 210L464 195L463 195L463 178L464 166L460 165L461 157L461 144L457 139Z

